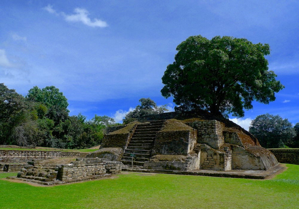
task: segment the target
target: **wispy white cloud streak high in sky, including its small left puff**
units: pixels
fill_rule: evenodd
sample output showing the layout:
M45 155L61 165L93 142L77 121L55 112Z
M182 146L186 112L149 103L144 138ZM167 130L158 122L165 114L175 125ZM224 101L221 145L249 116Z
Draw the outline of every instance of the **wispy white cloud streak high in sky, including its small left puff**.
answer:
M55 14L59 16L59 13L57 13L54 9L53 6L48 4L48 6L42 8L43 10L48 11L51 14ZM89 12L86 9L82 8L76 8L74 10L75 14L72 15L67 15L64 12L61 12L60 14L65 18L66 21L69 22L82 22L83 24L90 26L90 27L107 27L108 24L100 19L94 18L93 21L88 17Z

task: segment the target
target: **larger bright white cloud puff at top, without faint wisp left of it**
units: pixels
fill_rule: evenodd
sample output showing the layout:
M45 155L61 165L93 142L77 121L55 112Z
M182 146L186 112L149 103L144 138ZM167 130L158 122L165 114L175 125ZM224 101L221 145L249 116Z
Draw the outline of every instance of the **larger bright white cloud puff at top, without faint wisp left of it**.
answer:
M65 15L65 20L70 22L82 22L83 24L86 24L90 27L107 27L108 24L105 21L99 20L94 18L94 21L91 21L91 19L88 17L89 12L85 9L76 8L74 10L76 14L74 15Z

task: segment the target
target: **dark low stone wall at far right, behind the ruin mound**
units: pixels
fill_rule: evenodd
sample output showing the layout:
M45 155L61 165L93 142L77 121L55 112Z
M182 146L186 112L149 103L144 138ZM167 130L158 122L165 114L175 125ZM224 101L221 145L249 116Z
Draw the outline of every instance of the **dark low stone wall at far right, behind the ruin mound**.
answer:
M280 163L299 165L299 149L268 149Z

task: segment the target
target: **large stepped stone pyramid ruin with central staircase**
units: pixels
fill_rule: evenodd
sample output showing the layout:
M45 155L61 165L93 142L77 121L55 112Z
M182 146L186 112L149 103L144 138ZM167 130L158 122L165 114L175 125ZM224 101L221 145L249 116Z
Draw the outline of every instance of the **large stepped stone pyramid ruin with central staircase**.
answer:
M95 156L120 160L123 168L269 170L278 164L248 131L202 110L162 113L108 127L101 147Z

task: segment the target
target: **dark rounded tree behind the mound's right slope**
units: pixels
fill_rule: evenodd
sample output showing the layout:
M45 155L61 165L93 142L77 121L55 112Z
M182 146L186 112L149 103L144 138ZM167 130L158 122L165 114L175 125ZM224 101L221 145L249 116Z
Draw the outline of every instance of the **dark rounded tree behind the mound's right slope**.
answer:
M292 123L288 119L282 119L279 115L257 116L249 126L252 133L265 148L284 148L293 145L293 138L296 136Z

